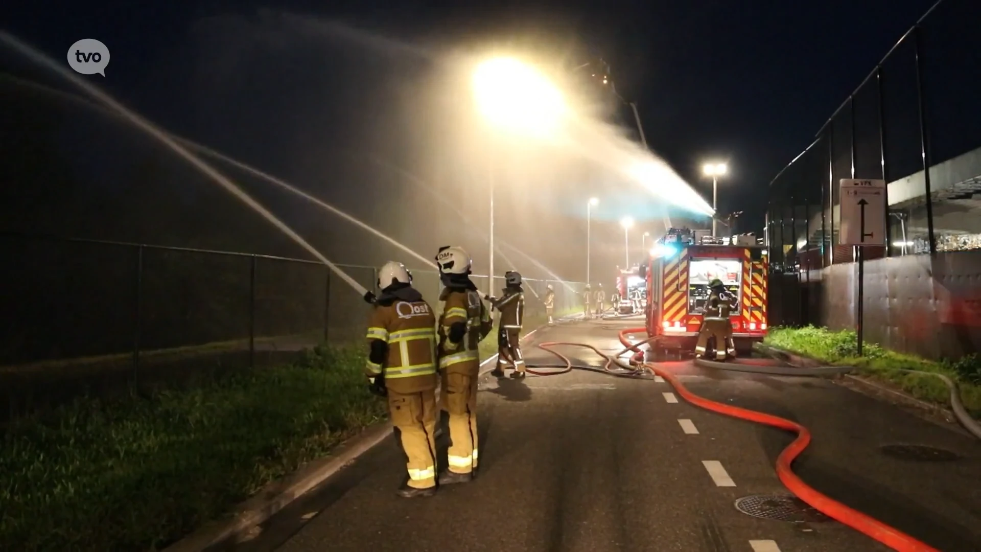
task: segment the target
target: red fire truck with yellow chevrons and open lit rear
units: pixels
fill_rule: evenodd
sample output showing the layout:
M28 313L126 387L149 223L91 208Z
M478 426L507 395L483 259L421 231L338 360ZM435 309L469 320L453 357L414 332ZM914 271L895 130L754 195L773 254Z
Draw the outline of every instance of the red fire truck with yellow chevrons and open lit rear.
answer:
M733 298L733 341L738 354L748 355L766 336L768 271L766 249L751 234L716 238L708 231L670 229L640 271L649 298L647 333L662 338L652 345L655 355L695 350L714 278Z

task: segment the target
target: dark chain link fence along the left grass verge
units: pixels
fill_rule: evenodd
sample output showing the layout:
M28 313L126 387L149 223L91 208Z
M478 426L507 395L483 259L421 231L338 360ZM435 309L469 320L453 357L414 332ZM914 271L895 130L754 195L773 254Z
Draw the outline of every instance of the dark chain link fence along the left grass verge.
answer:
M21 235L0 235L0 254L0 419L358 343L370 308L311 260ZM376 290L377 268L338 266ZM439 273L413 277L436 306ZM527 280L526 316L544 314L548 283ZM582 284L550 283L557 312L578 304Z

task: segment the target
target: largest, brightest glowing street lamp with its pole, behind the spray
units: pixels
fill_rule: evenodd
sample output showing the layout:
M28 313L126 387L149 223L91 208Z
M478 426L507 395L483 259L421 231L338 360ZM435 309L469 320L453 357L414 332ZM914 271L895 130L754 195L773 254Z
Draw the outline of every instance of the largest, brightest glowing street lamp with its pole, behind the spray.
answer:
M474 99L491 125L519 135L547 135L566 113L562 93L532 67L512 58L492 58L474 70ZM493 295L493 178L490 177L490 268Z

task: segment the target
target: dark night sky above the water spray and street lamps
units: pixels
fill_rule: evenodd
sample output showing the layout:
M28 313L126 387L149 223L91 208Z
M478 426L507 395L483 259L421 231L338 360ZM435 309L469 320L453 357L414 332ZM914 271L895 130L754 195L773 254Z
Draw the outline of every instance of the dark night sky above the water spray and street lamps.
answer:
M651 148L706 199L711 186L700 175L701 163L728 161L719 212L746 211L738 230L759 235L770 180L932 3L693 0L530 7L528 2L403 1L391 9L387 6L396 3L161 2L149 7L103 1L52 9L35 2L8 8L4 25L62 61L77 39L100 39L112 62L106 79L90 78L95 83L174 132L290 178L302 178L304 167L327 166L327 160L318 161L321 165L297 161L277 149L283 142L313 139L304 126L317 121L304 114L288 121L283 110L263 107L280 100L273 83L288 75L285 69L252 67L247 77L232 68L215 69L230 56L239 64L267 59L262 52L241 51L233 39L240 28L263 28L261 22L288 13L339 20L412 42L490 38L507 43L534 35L539 46L552 44L557 56L576 43L609 63L619 93L638 103ZM266 45L275 49L276 40ZM317 68L315 56L303 60L305 66L296 63L311 72ZM245 92L233 96L231 90ZM293 94L282 101L320 100L312 92ZM357 91L350 94L354 101ZM188 99L195 96L207 99ZM247 125L235 124L242 121ZM325 139L327 131L318 132L317 139Z

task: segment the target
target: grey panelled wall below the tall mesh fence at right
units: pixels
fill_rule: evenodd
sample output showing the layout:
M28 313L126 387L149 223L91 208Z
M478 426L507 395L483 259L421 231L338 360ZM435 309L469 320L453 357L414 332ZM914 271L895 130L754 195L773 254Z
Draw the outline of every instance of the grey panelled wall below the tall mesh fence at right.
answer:
M856 277L854 263L773 275L771 323L853 328ZM981 251L866 261L863 303L868 342L928 359L981 353Z

